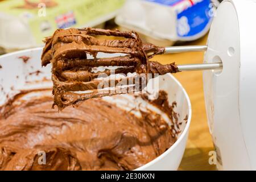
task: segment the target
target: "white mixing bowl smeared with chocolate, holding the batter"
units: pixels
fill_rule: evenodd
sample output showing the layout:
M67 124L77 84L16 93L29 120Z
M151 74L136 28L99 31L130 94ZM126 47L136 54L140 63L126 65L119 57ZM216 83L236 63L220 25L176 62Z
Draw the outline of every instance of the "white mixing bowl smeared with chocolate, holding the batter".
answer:
M0 56L0 106L5 104L7 97L12 97L19 90L51 86L51 66L41 67L41 53L42 48L34 48ZM28 56L30 59L24 63L20 56ZM37 74L37 71L40 73ZM170 103L177 102L175 111L179 113L179 122L183 122L180 126L181 133L166 152L136 170L177 170L184 154L191 122L191 103L188 95L171 74L159 77L159 89L168 93ZM187 121L184 120L186 116Z

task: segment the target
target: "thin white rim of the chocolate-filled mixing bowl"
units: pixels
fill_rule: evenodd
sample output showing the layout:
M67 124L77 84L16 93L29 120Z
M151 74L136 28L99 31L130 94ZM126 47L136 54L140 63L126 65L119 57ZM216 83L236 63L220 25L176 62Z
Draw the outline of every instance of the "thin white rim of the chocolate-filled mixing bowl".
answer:
M24 52L34 52L34 51L39 51L39 50L42 50L43 51L43 47L36 47L36 48L30 48L30 49L24 49L24 50L20 50L20 51L15 51L15 52L10 52L10 53L6 53L5 55L0 55L0 58L3 58L3 57L7 57L7 56L11 56L11 55L15 55L15 54L18 54L18 53L24 53ZM184 96L185 96L185 99L186 101L188 102L188 121L187 121L187 124L185 126L185 129L183 130L183 132L181 133L180 137L176 140L176 142L170 147L168 148L167 151L163 152L163 154L159 155L157 158L155 158L154 160L151 160L150 162L148 162L147 164L144 164L143 166L141 167L138 167L136 169L134 169L135 171L141 171L141 170L144 170L146 169L147 167L150 167L152 166L153 164L155 164L156 162L158 162L159 160L163 159L166 155L168 155L171 151L174 150L175 147L177 147L181 141L184 139L184 137L186 137L187 133L188 133L188 130L189 130L189 126L191 124L191 118L192 118L192 107L191 107L191 101L188 97L188 94L186 92L186 90L184 89L184 87L181 85L181 83L177 80L177 78L175 78L173 75L171 75L171 73L167 73L167 75L169 77L171 77L175 82L176 84L181 88L181 91L183 92Z

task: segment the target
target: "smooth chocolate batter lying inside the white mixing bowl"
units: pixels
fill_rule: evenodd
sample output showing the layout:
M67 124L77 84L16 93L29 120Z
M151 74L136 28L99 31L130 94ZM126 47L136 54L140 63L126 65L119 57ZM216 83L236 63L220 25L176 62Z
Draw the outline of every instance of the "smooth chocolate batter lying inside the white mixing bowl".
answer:
M26 93L19 94L0 107L1 170L130 170L176 141L173 129L152 111L138 118L98 98L59 112L51 109L51 91L40 92L42 97L27 101ZM166 107L167 94L160 96L154 104ZM167 114L175 120L173 106ZM42 152L46 164L40 163Z

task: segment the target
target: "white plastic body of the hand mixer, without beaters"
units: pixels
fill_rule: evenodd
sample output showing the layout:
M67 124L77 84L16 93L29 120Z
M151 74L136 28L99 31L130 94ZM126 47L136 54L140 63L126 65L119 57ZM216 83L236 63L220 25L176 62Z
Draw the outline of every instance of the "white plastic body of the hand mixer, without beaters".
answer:
M256 1L226 0L215 14L204 62L204 93L217 167L256 170Z

